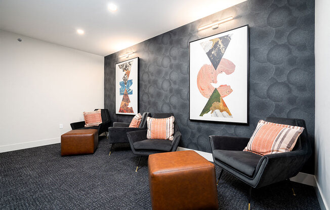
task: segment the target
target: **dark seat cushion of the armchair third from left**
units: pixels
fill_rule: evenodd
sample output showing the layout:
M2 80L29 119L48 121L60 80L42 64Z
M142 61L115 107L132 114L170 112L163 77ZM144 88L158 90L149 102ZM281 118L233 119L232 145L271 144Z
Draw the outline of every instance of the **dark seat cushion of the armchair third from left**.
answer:
M170 151L172 149L172 141L167 139L146 139L133 143L137 150L159 150Z

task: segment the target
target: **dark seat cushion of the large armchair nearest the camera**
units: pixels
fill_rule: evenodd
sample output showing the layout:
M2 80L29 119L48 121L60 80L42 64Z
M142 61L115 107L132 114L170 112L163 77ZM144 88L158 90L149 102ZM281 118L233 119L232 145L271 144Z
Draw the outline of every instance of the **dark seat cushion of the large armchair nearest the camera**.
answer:
M261 155L248 151L213 150L214 158L225 165L252 177L256 171Z

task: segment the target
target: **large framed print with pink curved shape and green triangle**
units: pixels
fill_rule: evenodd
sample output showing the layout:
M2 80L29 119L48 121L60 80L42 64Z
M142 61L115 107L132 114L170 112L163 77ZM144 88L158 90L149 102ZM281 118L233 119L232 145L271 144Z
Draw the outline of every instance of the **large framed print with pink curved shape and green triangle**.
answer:
M249 26L189 42L190 120L247 124Z

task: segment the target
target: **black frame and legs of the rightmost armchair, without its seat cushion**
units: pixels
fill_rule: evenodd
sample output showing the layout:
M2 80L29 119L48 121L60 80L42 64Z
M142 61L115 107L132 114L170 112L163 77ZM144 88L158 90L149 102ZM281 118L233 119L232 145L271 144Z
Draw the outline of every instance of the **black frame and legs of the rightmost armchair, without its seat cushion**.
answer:
M249 142L250 138L210 136L214 163L221 168L218 182L223 173L223 170L225 170L242 182L248 184L250 186L249 209L251 203L250 201L252 188L260 188L283 180L288 180L290 182L290 178L296 176L300 172L300 170L307 162L309 156L312 154L304 120L269 117L266 119L266 121L285 125L300 126L304 127L305 129L299 136L297 143L292 151L261 156L252 177L246 176L239 170L215 158L215 153L221 152L217 150L242 151Z

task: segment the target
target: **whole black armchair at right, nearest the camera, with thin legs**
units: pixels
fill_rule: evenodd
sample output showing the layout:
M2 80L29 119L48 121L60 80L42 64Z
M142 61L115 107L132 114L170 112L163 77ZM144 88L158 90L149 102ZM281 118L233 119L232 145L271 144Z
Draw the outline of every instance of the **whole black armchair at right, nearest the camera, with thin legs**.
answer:
M243 151L250 138L210 136L214 163L221 168L218 182L225 170L250 185L249 209L252 187L260 188L282 180L290 182L290 178L299 173L312 153L304 120L270 117L266 121L305 129L292 151L264 156ZM293 193L295 195L294 190Z

